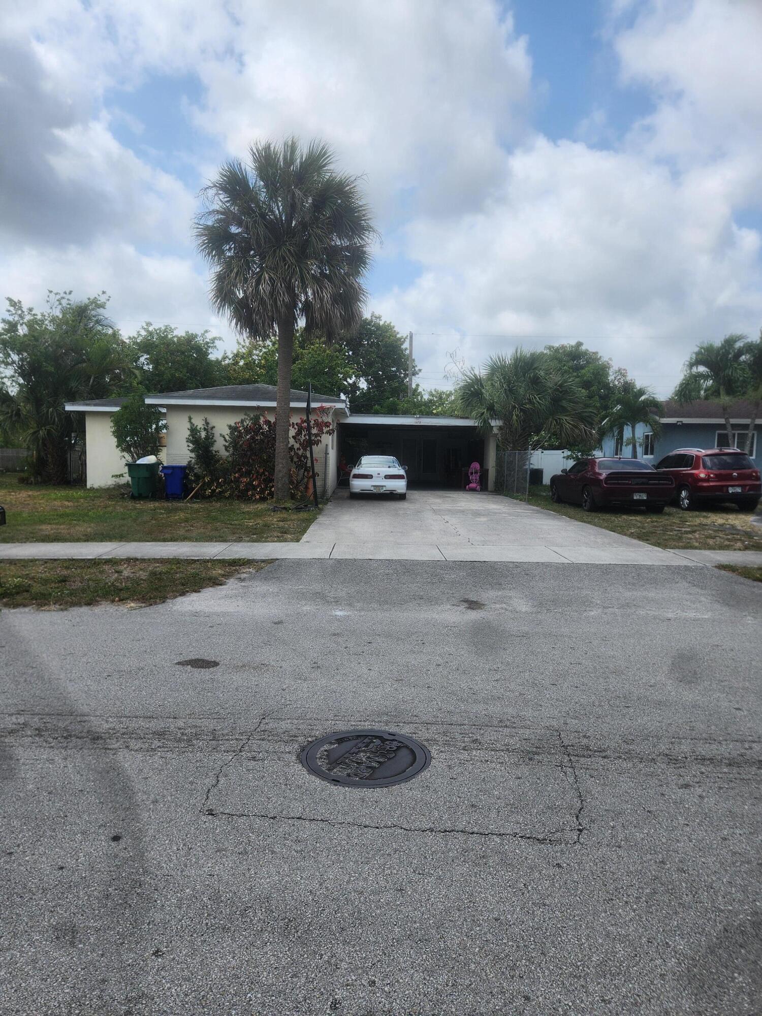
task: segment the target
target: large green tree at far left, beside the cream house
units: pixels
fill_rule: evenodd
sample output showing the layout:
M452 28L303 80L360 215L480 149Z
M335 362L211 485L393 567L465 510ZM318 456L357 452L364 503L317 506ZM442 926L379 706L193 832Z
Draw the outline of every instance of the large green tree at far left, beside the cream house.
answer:
M73 301L70 291L49 293L42 312L17 300L8 306L0 323L0 429L29 450L39 479L65 483L79 415L64 405L129 390L125 343L104 294Z

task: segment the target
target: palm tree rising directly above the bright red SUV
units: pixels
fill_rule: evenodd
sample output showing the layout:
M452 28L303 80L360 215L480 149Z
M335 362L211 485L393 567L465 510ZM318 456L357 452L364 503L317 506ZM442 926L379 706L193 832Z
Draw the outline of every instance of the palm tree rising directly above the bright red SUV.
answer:
M727 440L732 440L731 403L751 385L746 335L725 335L721 342L700 342L686 361L674 397L680 402L717 398L722 406Z

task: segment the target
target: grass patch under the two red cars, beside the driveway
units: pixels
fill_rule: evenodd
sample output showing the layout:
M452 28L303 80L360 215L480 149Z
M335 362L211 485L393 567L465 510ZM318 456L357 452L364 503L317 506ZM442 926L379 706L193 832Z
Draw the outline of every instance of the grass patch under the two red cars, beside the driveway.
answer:
M519 500L523 500L519 498ZM621 532L654 547L692 551L762 551L762 525L751 513L726 505L697 511L670 506L662 515L650 515L642 508L601 508L584 512L579 505L556 505L550 487L530 487L529 504L558 515ZM759 517L760 509L756 515Z

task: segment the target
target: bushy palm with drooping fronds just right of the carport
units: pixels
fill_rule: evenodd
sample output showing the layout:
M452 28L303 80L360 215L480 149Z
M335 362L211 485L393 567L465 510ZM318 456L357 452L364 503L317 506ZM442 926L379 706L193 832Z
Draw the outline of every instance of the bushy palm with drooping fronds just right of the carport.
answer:
M548 355L516 348L468 370L456 388L458 409L490 432L504 450L568 448L595 441L594 411L570 375L554 371Z

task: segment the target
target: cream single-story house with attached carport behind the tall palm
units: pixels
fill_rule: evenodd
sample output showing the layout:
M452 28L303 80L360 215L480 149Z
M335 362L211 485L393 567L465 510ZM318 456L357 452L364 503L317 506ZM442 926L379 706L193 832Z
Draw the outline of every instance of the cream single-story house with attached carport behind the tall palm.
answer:
M259 411L274 415L276 389L272 385L223 385L189 391L146 395L149 405L158 406L167 419L165 447L161 458L167 465L188 461L188 417L200 424L204 417L214 425L219 450L230 424ZM107 487L124 483L126 469L111 433L111 418L123 398L101 398L69 402L71 412L84 414L86 483ZM348 401L313 392L313 414L325 407L335 425L335 433L315 451L319 473L318 490L325 496L336 486L339 462L352 465L364 452L395 455L407 466L412 486L460 487L463 470L472 461L489 469L488 486L494 489L497 435L485 437L472 420L455 417L353 416ZM307 392L292 390L291 416L305 415Z

